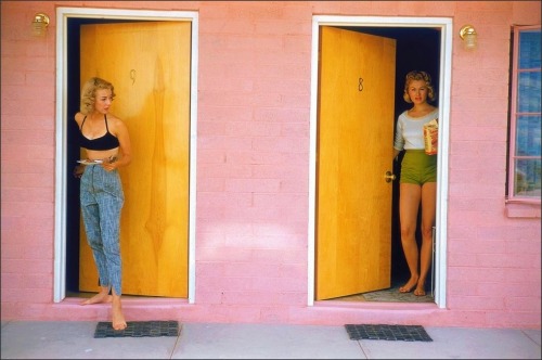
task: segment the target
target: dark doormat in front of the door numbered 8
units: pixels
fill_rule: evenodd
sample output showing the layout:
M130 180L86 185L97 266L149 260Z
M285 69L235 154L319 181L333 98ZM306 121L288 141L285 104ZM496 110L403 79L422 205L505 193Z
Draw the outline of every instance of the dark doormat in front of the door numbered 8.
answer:
M351 340L433 342L421 325L345 325Z

